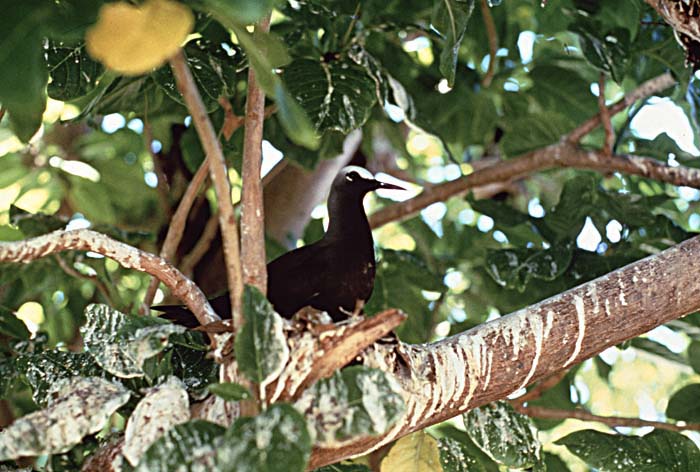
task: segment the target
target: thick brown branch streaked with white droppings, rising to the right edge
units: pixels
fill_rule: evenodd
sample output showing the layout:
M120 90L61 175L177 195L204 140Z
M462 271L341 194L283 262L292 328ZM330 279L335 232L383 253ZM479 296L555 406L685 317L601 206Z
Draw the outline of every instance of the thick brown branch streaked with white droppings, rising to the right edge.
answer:
M364 353L364 363L393 373L406 402L403 419L380 437L319 444L309 467L366 454L403 435L503 399L697 311L700 268L688 261L698 256L700 237L433 344L371 346ZM296 362L293 355L289 365Z

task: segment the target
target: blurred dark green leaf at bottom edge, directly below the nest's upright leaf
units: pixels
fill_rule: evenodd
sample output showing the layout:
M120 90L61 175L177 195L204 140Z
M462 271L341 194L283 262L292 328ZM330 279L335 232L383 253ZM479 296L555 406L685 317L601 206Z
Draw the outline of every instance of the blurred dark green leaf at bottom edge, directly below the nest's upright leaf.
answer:
M217 446L216 470L303 472L311 453L306 421L294 408L274 404L254 418L239 418Z

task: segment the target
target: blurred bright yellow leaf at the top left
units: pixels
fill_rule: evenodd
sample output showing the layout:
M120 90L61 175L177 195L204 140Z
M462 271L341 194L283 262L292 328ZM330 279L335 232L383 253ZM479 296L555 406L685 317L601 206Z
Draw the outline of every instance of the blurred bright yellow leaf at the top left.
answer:
M192 11L171 0L108 3L87 32L87 51L112 70L139 75L175 54L193 25Z

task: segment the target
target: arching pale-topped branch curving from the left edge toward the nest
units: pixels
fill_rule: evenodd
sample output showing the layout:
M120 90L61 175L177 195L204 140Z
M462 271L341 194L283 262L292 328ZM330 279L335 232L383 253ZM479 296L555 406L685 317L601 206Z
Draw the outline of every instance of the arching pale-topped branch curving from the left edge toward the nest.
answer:
M220 320L199 287L162 258L104 234L87 229L53 233L16 242L0 242L0 263L28 263L61 251L92 251L117 261L127 269L158 277L177 298L187 305L201 324Z

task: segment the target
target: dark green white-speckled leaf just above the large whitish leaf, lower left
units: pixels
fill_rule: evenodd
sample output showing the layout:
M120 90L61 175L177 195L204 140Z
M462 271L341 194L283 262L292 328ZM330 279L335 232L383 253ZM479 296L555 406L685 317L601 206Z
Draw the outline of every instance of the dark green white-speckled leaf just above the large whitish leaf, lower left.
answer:
M17 370L32 388L32 398L45 407L50 393L62 380L72 377L101 377L104 372L88 353L46 350L24 354L17 360Z

